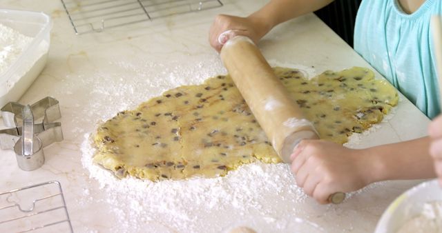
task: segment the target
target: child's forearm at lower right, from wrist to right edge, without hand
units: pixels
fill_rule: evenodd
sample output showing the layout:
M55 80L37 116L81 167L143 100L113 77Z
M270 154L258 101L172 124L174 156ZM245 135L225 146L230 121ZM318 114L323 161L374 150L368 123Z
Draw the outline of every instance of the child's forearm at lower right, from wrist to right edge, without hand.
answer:
M436 177L429 154L430 138L367 148L365 156L369 183L398 179L429 179Z

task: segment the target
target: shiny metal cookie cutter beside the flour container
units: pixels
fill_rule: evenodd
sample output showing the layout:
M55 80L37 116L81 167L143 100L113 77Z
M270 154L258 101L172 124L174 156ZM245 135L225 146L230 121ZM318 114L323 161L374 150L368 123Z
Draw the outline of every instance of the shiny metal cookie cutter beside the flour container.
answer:
M44 164L43 148L63 141L61 123L52 122L61 118L59 103L46 97L32 105L10 102L1 108L6 130L0 130L0 148L15 151L21 170L32 171ZM35 119L44 117L41 123ZM21 125L21 127L19 127Z

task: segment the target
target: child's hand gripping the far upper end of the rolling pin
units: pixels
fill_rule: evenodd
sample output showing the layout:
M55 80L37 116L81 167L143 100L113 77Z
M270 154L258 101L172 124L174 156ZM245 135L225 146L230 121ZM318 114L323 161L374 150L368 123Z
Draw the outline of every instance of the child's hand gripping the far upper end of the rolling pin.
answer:
M219 14L210 28L209 42L216 51L220 52L222 45L233 37L247 36L254 43L258 43L269 30L270 28L253 17L243 18ZM222 37L220 37L221 34Z

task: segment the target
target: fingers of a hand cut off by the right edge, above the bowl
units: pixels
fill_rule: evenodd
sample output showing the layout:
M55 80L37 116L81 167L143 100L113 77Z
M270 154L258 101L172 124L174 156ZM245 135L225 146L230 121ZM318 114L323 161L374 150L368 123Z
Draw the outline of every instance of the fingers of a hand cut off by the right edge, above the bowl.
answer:
M432 139L430 154L434 159L434 171L439 176L439 183L442 185L442 115L430 124L428 133Z

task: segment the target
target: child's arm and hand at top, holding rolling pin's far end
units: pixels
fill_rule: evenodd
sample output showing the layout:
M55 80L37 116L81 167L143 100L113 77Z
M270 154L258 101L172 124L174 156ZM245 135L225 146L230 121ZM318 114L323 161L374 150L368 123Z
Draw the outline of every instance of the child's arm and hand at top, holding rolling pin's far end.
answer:
M223 43L236 35L244 35L257 43L261 37L279 23L323 8L333 0L272 0L249 17L220 14L215 18L209 32L209 42L218 52L222 48L218 37L222 32L233 30Z

